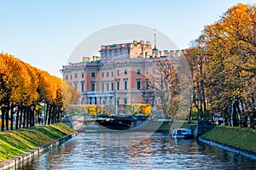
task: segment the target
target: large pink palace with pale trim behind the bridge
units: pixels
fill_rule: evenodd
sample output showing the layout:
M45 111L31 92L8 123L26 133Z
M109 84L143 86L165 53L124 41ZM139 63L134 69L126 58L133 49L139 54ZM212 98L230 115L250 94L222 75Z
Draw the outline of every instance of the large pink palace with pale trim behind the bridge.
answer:
M153 50L150 42L133 41L102 45L101 57L84 57L83 62L63 65L63 79L80 95L79 104L125 105L152 102L144 75L154 74L157 59L181 56L183 51Z

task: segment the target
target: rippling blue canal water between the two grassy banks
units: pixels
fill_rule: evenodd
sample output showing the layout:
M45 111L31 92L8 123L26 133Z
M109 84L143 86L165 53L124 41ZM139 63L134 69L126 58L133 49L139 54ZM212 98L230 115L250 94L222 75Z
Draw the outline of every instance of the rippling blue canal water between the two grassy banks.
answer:
M256 169L256 161L163 133L79 133L18 169Z

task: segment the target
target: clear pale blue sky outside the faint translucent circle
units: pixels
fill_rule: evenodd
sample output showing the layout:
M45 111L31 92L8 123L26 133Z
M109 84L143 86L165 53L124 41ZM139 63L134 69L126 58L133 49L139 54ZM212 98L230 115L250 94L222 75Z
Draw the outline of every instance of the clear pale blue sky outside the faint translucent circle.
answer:
M61 77L73 49L108 26L153 27L188 48L204 26L254 0L0 0L0 51Z

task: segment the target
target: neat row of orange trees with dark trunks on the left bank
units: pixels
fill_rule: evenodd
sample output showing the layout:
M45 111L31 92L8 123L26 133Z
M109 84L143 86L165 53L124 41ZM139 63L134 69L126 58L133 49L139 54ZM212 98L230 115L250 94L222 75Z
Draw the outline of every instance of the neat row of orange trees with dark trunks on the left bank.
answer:
M16 129L32 127L40 114L44 114L45 124L61 122L65 107L78 98L76 90L60 78L12 55L0 54L2 131L14 129L14 120Z

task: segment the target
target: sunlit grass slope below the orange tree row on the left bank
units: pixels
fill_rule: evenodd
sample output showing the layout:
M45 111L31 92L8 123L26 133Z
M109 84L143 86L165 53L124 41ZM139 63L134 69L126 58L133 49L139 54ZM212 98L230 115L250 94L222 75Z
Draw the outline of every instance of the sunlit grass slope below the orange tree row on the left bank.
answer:
M0 161L59 139L73 129L63 123L0 132Z

